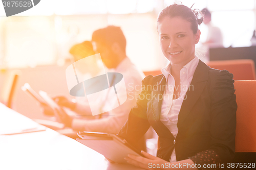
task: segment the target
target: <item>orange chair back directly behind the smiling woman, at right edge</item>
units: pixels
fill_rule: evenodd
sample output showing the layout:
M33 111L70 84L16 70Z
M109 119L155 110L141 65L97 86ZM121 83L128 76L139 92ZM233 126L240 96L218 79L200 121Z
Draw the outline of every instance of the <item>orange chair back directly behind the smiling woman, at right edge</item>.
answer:
M235 81L237 96L236 152L256 152L256 80Z

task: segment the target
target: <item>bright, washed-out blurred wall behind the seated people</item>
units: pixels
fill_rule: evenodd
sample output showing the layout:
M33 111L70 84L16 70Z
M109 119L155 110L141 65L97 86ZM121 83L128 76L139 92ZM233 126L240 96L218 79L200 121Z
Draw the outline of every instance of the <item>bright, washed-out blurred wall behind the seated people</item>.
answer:
M224 47L250 46L255 30L256 0L183 0L183 5L208 8L212 23L221 29ZM156 30L158 13L174 0L42 0L34 8L5 17L0 6L0 93L7 73L20 69L13 108L31 118L46 118L36 102L20 87L29 83L35 91L50 95L68 92L65 69L69 49L91 40L93 31L108 25L120 26L127 40L127 56L143 71L166 65ZM201 42L207 37L202 24ZM197 47L200 47L200 43ZM200 57L203 58L203 55Z

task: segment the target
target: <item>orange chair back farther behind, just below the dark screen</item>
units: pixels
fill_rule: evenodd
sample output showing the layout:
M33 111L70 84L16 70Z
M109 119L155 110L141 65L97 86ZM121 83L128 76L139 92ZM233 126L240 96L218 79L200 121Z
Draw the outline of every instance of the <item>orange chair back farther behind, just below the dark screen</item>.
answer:
M211 68L228 70L233 74L234 80L256 80L253 60L209 61L206 64Z

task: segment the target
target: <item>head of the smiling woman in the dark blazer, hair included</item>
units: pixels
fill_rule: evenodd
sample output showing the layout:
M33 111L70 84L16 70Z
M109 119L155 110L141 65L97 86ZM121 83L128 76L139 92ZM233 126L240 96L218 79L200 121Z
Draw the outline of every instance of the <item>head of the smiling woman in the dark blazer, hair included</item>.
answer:
M198 25L203 21L198 15L199 12L187 10L186 6L169 6L159 13L157 30L161 49L172 64L185 65L195 57L195 44L201 34Z

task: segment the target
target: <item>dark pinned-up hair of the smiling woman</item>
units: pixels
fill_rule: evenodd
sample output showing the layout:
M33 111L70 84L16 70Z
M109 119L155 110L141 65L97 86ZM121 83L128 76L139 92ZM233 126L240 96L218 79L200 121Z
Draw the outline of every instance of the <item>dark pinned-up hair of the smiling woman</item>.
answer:
M196 34L198 25L203 22L203 15L200 10L192 10L191 8L178 4L170 5L158 14L157 22L160 22L165 16L169 16L170 18L181 17L191 23L191 30Z

